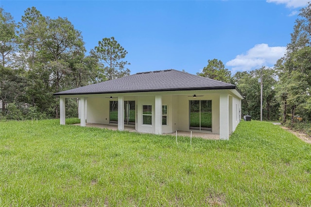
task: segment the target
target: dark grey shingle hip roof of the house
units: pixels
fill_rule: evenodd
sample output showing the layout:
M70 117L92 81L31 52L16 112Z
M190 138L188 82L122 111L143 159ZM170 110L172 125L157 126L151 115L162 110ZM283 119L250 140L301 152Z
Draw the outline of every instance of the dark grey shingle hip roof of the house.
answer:
M130 93L150 91L236 89L235 85L174 69L140 72L97 84L73 88L54 95Z

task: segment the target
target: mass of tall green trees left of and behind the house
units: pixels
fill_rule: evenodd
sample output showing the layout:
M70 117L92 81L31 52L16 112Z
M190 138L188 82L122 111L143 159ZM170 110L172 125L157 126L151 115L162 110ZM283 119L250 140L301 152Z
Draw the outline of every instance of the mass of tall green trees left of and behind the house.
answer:
M32 7L15 22L0 7L0 118L58 118L53 93L129 75L126 54L114 37L86 52L67 18L44 17ZM77 100L67 102L67 114L77 116Z

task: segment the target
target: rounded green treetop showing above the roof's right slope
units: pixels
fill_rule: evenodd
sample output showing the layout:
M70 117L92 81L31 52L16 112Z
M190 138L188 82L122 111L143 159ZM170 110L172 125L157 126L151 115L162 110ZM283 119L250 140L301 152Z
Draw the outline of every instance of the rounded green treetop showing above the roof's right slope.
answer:
M208 64L204 67L202 72L198 72L197 75L207 77L210 79L223 81L225 83L231 83L231 72L225 69L225 65L221 60L212 59L207 61Z

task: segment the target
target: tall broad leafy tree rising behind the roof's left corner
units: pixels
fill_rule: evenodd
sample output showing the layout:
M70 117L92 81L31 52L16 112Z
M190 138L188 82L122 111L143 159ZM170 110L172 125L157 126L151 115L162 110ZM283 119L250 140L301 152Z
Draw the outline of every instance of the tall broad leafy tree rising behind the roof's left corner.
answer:
M46 17L40 21L38 52L43 74L49 74L49 86L52 93L68 89L66 77L70 76L69 61L75 53L84 55L85 47L81 32L67 18ZM72 88L72 87L71 87ZM58 100L53 103L55 116L58 118Z

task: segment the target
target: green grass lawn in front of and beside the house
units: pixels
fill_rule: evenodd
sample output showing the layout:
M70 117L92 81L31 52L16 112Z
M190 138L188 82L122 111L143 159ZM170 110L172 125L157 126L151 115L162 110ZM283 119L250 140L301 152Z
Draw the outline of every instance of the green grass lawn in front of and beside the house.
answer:
M311 145L268 122L192 145L59 120L0 132L0 206L311 206Z

